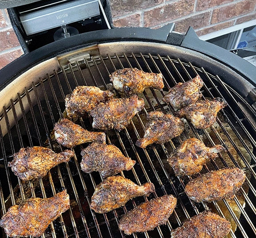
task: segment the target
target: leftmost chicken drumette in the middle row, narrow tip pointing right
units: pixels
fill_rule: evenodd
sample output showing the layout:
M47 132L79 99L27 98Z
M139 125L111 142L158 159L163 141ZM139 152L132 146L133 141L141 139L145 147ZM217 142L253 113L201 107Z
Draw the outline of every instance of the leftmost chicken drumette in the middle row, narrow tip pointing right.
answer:
M68 162L74 153L65 150L56 154L51 149L44 147L21 148L13 155L12 162L8 163L13 173L22 180L44 177L56 165Z

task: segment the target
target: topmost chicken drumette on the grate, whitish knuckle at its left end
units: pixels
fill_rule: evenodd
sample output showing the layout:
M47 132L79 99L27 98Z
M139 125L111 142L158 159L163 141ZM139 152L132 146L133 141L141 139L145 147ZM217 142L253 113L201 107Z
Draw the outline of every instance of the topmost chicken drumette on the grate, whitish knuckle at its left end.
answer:
M164 87L163 75L146 73L137 68L118 69L109 75L113 87L128 95L141 93L145 88L153 87L162 89Z

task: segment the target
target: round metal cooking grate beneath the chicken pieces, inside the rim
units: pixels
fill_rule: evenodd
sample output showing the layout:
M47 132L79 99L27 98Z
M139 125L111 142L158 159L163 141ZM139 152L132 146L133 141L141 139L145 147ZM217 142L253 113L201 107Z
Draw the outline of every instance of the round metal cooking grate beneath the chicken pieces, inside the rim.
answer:
M164 91L146 89L143 97L145 108L136 115L132 123L123 131L108 131L107 143L120 148L125 156L136 160L131 171L122 176L141 185L153 182L156 192L148 198L139 197L129 201L124 207L107 214L96 214L90 210L90 198L95 186L102 181L99 173L86 174L80 170L80 151L86 145L74 149L75 158L68 163L53 168L45 178L23 182L7 167L12 155L21 147L44 146L56 152L64 150L54 140L52 129L64 116L65 95L78 85L109 87L108 75L122 67L137 67L149 72L162 72ZM204 98L221 97L228 106L218 114L217 122L207 130L195 129L186 122L186 129L169 143L148 146L142 149L135 146L137 139L144 135L144 124L149 111L161 110L173 113L173 109L161 101L164 93L178 82L192 79L199 74L204 80ZM118 95L117 95L118 96ZM120 217L145 200L173 194L178 198L177 207L167 225L153 231L132 234L131 237L170 237L170 231L205 209L211 209L232 222L231 237L253 237L256 235L256 123L254 109L228 87L217 75L211 75L203 67L193 66L169 56L160 57L142 54L122 54L120 56L98 56L69 64L60 71L49 73L46 79L33 83L11 100L8 108L3 108L0 117L0 200L2 213L12 205L30 197L46 198L66 188L71 199L71 209L57 218L46 230L43 237L126 237L118 230ZM92 130L92 118L80 119L80 125ZM178 178L169 167L167 156L185 139L196 137L208 146L222 144L226 152L219 154L215 161L204 166L201 173L224 167L240 167L247 178L234 199L212 203L192 202L184 194L184 186L192 177ZM254 218L253 218L254 217ZM3 231L4 234L4 231ZM5 234L4 234L5 235ZM6 236L6 235L5 235Z

